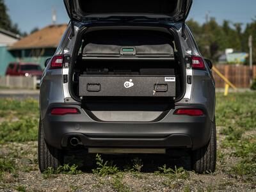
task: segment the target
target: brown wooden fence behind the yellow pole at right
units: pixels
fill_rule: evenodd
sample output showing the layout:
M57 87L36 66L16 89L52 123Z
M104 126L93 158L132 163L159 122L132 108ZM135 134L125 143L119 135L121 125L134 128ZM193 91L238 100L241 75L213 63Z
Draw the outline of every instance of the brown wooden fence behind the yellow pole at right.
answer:
M227 79L233 83L237 88L250 88L250 67L236 66L236 65L215 65ZM224 88L225 82L215 72L212 72L216 88ZM253 79L256 79L256 65L253 65Z

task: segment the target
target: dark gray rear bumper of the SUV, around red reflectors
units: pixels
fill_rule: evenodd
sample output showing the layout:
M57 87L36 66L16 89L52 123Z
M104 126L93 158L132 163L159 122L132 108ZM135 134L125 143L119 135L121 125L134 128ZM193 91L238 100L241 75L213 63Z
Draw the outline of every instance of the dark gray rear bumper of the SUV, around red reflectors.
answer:
M97 122L79 106L72 107L79 109L81 114L54 116L47 113L42 120L45 140L49 145L65 148L70 138L77 137L87 148L196 149L210 140L212 121L202 106L177 106L157 122ZM173 115L179 108L200 108L205 111L205 115Z

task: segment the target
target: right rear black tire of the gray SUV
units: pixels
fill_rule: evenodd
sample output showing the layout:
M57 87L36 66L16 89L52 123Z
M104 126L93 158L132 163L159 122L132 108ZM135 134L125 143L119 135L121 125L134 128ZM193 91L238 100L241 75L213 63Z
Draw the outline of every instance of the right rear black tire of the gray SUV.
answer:
M213 173L216 168L216 124L212 125L211 139L205 147L199 148L192 152L191 163L192 169L196 173Z

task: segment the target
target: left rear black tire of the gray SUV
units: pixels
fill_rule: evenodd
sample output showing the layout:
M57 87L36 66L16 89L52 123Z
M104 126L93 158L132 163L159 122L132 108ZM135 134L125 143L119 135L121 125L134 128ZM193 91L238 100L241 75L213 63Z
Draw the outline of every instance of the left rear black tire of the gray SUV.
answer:
M48 168L57 170L63 164L63 154L58 148L51 147L45 142L44 127L39 122L38 130L38 164L40 172L44 172Z

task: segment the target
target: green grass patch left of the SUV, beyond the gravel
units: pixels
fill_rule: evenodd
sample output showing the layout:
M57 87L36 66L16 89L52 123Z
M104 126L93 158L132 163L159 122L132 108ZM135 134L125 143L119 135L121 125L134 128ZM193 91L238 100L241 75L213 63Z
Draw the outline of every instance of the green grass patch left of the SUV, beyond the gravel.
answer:
M36 141L39 108L34 99L0 99L0 143Z

